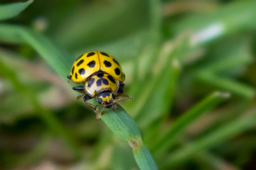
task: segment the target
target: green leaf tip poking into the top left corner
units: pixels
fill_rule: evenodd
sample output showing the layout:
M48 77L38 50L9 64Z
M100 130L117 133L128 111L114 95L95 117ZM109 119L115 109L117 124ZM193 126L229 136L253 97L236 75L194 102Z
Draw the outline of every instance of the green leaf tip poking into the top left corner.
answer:
M0 5L0 20L11 19L16 15L19 15L19 13L25 10L31 3L33 3L33 0L29 0L26 3Z

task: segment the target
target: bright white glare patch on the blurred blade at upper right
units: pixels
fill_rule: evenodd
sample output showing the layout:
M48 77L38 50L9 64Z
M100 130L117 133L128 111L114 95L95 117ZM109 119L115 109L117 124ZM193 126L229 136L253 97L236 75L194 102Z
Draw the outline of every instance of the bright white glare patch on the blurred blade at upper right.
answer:
M212 24L205 29L202 29L191 38L191 45L197 45L198 43L206 42L220 36L224 32L223 24Z

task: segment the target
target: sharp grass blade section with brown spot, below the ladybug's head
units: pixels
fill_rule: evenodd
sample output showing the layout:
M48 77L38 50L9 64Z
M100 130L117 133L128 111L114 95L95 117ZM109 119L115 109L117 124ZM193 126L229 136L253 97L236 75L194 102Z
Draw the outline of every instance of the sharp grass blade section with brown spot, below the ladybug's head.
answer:
M94 101L96 104L96 101ZM118 105L119 111L106 110L101 119L121 140L127 141L132 147L134 158L140 169L157 169L156 163L141 139L141 132L138 125L131 116Z

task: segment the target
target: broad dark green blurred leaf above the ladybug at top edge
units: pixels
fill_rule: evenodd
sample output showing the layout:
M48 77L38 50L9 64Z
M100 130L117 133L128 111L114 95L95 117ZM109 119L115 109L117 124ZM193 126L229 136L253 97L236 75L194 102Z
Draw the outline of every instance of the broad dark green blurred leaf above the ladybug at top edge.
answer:
M147 27L147 6L145 0L79 6L51 36L72 51L116 40Z

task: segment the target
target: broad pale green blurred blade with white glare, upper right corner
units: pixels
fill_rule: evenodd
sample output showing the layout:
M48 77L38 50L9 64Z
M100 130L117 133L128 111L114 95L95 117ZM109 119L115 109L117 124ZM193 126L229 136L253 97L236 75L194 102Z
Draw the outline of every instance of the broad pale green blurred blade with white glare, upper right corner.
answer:
M172 26L171 29L176 34L191 29L193 31L191 45L203 45L220 36L256 26L255 6L255 1L226 4L205 15L191 15Z

